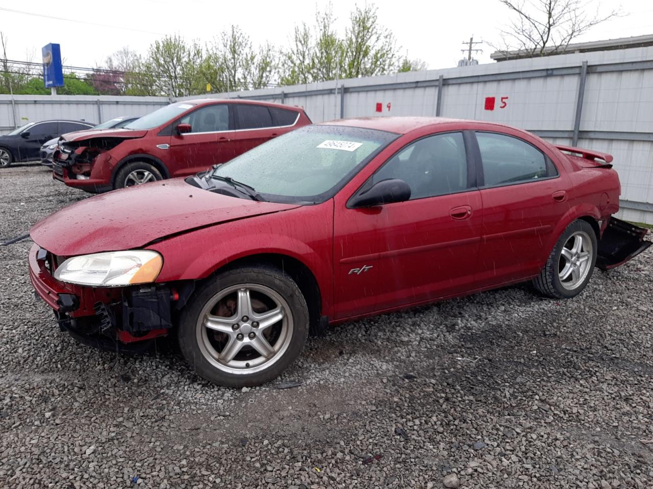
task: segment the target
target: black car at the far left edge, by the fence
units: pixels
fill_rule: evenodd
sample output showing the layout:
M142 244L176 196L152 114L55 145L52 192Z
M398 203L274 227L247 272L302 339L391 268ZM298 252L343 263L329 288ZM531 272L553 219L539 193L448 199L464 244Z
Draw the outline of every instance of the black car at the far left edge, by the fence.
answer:
M27 123L0 136L0 168L6 168L15 161L39 159L41 145L66 132L90 129L93 123L84 121L40 121Z

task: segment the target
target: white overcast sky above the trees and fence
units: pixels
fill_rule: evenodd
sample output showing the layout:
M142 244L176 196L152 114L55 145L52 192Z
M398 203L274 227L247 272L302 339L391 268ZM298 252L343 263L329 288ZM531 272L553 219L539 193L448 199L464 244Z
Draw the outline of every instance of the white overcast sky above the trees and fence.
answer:
M359 2L362 5L363 2ZM508 12L498 0L413 1L377 0L379 22L389 27L402 46L402 54L419 58L429 68L454 67L462 57L462 43L474 40L497 42ZM312 23L317 5L311 1L274 2L206 0L111 0L110 2L0 0L0 30L8 35L9 59L25 60L27 52L40 61L40 48L48 42L61 44L67 65L95 67L106 55L123 46L145 53L153 40L178 33L204 43L231 24L239 25L253 43L289 43L293 26ZM353 2L332 0L336 25L343 31ZM592 8L599 5L591 2ZM603 10L617 2L604 1ZM625 14L595 27L579 40L602 40L653 34L653 3L650 0L622 0ZM37 15L34 15L37 14ZM43 18L38 15L56 18ZM66 20L67 19L67 20ZM70 22L80 21L80 22ZM490 63L494 50L487 44L475 46L483 53L479 63Z

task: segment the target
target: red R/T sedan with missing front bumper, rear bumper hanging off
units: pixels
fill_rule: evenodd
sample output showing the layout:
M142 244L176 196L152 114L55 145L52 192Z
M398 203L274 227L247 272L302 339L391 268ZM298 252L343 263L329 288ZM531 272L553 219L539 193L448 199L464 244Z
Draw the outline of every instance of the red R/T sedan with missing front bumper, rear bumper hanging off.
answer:
M611 217L611 160L491 123L306 126L46 218L31 280L83 342L176 334L200 376L258 385L330 323L526 280L574 297L650 245Z

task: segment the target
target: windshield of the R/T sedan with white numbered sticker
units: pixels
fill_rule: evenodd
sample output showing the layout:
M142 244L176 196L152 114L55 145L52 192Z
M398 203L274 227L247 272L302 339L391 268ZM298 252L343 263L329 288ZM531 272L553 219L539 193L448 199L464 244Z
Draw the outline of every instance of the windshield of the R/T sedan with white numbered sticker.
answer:
M255 188L265 200L331 198L397 134L347 126L306 126L257 146L212 175Z

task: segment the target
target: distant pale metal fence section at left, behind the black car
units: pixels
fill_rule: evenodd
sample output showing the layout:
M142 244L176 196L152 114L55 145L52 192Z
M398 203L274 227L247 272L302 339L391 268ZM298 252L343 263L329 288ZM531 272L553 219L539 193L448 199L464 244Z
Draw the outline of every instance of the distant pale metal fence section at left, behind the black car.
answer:
M120 115L144 115L167 97L91 95L0 95L0 134L31 121L74 119L101 123Z

